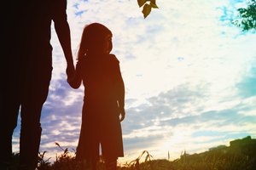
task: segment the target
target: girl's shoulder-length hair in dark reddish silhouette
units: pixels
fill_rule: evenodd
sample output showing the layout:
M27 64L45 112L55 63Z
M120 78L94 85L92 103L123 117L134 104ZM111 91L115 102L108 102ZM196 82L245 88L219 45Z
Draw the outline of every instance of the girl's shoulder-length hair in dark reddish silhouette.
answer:
M84 55L102 50L105 37L112 36L112 32L100 23L92 23L84 27L79 45L78 59Z

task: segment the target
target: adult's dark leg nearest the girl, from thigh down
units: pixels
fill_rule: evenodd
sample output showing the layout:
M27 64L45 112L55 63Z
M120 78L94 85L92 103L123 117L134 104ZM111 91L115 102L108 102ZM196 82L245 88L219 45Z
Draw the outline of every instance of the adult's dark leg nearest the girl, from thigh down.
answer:
M42 127L41 111L48 96L51 71L28 81L21 103L20 167L34 170L38 166L38 151ZM22 169L22 168L20 168Z

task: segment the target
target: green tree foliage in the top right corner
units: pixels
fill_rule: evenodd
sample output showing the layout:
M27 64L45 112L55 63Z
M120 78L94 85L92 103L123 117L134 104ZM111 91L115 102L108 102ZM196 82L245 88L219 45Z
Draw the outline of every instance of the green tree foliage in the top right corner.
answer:
M247 8L238 8L238 18L232 20L242 31L256 30L256 0L249 0Z

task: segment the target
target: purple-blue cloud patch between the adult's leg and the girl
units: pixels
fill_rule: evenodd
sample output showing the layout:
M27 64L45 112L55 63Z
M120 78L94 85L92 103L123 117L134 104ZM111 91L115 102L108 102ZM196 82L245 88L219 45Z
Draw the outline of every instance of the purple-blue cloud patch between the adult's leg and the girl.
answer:
M64 78L52 83L42 111L43 135L47 137L46 143L74 144L79 139L84 92L81 88L70 88Z

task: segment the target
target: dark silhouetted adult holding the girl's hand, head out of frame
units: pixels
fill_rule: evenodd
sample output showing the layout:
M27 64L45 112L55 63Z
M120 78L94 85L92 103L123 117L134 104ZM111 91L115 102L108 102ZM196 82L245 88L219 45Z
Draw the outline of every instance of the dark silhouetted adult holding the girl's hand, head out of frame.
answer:
M8 2L4 6L12 10L3 26L0 169L9 169L12 135L20 111L20 169L34 170L41 140L40 116L52 71L52 21L67 60L67 79L74 72L67 0Z

